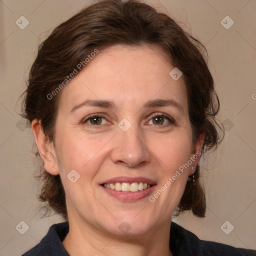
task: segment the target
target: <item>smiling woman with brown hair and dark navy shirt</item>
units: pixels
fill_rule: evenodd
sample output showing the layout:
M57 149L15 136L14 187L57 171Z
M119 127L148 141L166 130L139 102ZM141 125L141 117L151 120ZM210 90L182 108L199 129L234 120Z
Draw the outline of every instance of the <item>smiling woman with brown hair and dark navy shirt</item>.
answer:
M171 222L204 216L198 162L219 143L201 48L136 0L92 4L40 45L24 116L44 166L40 199L67 221L23 255L256 255Z

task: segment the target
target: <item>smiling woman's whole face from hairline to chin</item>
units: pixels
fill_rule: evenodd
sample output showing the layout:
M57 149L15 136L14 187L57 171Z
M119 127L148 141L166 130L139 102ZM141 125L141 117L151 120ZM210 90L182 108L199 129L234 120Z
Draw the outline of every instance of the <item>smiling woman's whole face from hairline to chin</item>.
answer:
M169 223L199 157L182 164L200 151L173 68L158 46L115 45L62 89L50 172L60 174L69 221L114 235Z

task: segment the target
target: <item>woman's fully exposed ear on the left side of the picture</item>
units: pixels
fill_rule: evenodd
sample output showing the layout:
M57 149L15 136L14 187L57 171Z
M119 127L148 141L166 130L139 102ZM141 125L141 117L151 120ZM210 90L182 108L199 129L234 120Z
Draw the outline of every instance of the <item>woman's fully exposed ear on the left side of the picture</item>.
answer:
M34 141L44 164L44 169L52 175L57 175L59 172L53 141L50 141L44 134L41 120L32 120L31 128L34 135Z

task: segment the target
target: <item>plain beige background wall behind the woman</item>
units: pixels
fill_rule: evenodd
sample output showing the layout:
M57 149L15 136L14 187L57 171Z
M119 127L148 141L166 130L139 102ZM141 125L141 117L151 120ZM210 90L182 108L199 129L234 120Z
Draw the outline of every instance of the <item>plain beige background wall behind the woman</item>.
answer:
M38 43L89 2L0 0L0 255L20 255L52 223L61 221L57 216L40 218L33 138L17 114L17 99L25 89ZM256 249L256 1L147 2L185 23L185 29L206 45L221 103L220 118L227 129L221 147L203 162L207 216L183 214L175 221L201 239ZM15 24L21 15L29 21L24 29ZM234 21L229 29L220 23L226 15ZM21 220L29 226L23 235L15 229ZM229 234L220 228L226 220L234 226Z

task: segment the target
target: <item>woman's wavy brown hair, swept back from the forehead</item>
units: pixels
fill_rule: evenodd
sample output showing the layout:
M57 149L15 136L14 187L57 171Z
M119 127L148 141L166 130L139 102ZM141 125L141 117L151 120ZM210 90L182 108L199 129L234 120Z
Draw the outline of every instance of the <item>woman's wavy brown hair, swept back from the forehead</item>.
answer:
M47 95L95 49L120 43L162 47L170 63L183 73L193 140L204 131L203 150L216 148L219 135L215 115L219 101L203 54L206 49L168 15L139 0L101 0L58 25L38 48L25 91L23 116L30 122L40 119L52 141L61 91L51 99ZM45 202L46 212L53 209L67 218L59 175L51 175L42 167L39 177L42 181L39 198ZM198 177L199 166L195 172L196 184L187 182L177 214L191 209L194 215L204 216L205 195Z

